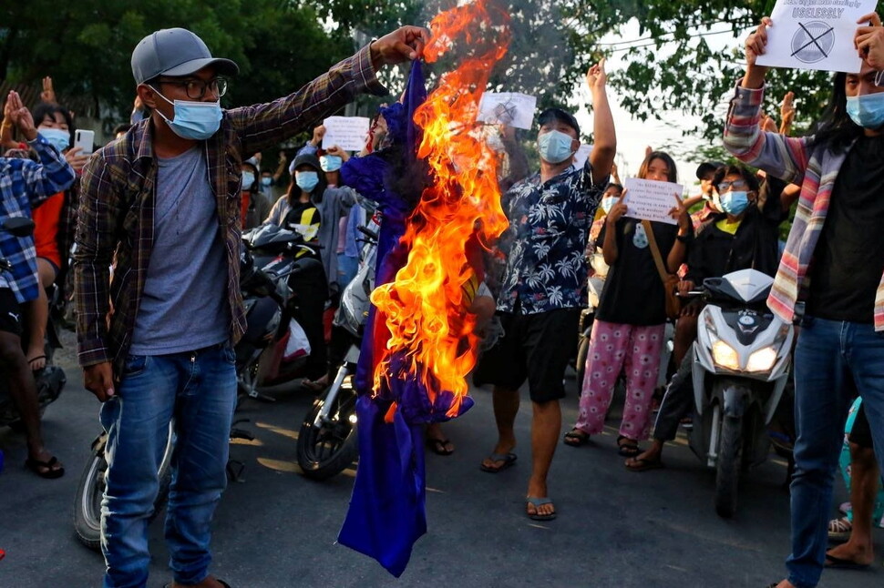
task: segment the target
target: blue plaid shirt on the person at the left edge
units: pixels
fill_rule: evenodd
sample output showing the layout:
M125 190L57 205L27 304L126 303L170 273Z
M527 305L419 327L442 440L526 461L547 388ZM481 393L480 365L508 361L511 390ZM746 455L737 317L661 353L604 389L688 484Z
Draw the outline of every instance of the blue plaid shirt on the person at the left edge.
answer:
M74 170L56 147L39 135L30 146L40 163L0 157L0 219L30 218L32 208L74 183ZM34 238L0 231L0 257L12 265L9 272L0 272L0 288L12 289L19 303L36 299L39 289Z

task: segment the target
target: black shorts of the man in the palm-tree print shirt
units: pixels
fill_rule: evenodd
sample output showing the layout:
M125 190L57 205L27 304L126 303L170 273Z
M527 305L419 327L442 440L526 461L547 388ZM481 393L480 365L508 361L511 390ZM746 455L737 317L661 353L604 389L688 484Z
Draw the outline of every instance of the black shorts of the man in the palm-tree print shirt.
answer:
M562 380L577 348L581 309L538 314L499 312L498 316L504 336L479 359L473 382L477 386L488 383L519 390L528 380L532 401L564 398Z

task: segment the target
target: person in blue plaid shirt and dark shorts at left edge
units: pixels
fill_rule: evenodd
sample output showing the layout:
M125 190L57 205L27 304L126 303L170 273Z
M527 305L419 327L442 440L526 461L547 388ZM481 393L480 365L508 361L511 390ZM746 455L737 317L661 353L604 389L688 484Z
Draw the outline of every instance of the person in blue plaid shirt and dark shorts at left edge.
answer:
M0 222L29 217L31 208L67 189L76 177L61 152L37 133L31 113L15 92L7 97L5 116L36 151L40 163L0 158ZM0 256L12 266L9 271L0 273L0 367L7 376L7 389L25 426L25 465L42 478L59 478L65 468L46 450L36 385L22 350L20 305L36 299L39 290L34 239L0 234Z

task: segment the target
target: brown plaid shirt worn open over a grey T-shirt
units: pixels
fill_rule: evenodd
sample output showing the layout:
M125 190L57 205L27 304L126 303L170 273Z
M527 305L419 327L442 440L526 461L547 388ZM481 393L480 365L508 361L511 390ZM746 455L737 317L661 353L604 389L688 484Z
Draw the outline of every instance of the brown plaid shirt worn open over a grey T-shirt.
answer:
M234 342L245 330L239 288L243 154L251 156L314 127L365 91L386 94L375 78L367 46L290 96L225 110L219 131L202 142L226 249ZM74 258L79 362L86 367L112 361L116 376L128 353L153 244L157 161L151 124L143 120L99 149L81 180ZM114 276L108 289L111 263Z

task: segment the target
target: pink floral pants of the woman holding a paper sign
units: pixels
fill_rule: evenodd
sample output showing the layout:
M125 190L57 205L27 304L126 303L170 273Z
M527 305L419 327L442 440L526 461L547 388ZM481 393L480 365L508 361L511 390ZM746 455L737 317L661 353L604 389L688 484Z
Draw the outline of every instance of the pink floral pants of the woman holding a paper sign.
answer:
M665 325L636 327L596 320L581 390L577 429L601 433L621 370L626 374L626 404L620 434L642 441L651 432L651 400L660 370Z

